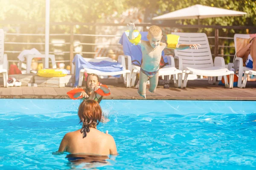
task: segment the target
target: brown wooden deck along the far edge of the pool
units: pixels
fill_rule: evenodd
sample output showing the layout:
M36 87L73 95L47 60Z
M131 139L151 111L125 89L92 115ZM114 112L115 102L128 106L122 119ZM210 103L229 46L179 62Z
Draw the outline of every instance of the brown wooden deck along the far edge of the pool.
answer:
M113 79L102 80L102 84L109 86L111 95L104 99L142 99L136 88L125 88L123 84L116 84ZM166 100L256 100L256 82L247 82L244 89L227 89L224 86L209 85L206 80L188 81L187 88L164 89L162 85L151 94L147 91L147 99ZM68 99L67 91L71 87L0 87L0 98L3 99Z

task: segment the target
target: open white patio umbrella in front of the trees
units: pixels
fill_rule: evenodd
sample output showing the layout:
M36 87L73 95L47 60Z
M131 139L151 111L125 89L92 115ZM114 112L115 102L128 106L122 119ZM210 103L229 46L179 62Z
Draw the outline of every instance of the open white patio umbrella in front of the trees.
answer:
M167 14L160 15L152 18L153 20L180 20L180 19L198 19L198 25L200 19L213 18L213 17L231 17L242 16L247 14L246 12L234 11L230 9L216 8L211 6L194 5L187 8L179 9L177 11L169 12Z

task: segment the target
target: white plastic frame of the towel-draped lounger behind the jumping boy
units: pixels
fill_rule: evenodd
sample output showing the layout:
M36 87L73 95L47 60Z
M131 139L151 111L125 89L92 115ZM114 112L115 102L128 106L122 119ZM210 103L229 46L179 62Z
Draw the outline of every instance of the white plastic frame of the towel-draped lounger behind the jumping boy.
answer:
M125 55L125 56L122 56L122 57L124 57L123 59L126 59L126 61L128 63L127 69L132 72L131 87L134 87L136 76L137 76L137 74L140 73L140 66L132 64L131 56ZM166 65L163 68L159 69L159 76L162 76L162 77L169 76L168 80L171 78L171 76L173 76L174 86L176 88L180 88L181 87L181 81L182 81L182 71L175 68L175 62L174 62L174 58L172 56L167 56L167 59L168 59L169 65Z

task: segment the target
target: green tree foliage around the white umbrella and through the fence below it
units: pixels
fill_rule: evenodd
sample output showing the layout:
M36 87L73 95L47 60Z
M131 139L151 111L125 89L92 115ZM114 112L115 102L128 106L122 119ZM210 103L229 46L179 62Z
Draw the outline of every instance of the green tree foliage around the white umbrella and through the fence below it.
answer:
M217 8L231 9L236 11L247 12L247 15L242 17L216 17L201 19L201 25L219 25L219 26L256 26L256 1L255 0L137 0L133 5L141 6L146 9L148 18L176 11L181 8L186 8L192 5L201 4ZM147 10L149 12L147 12ZM147 18L146 18L147 19ZM148 20L150 21L150 20ZM173 21L165 21L173 22ZM197 25L197 20L177 20L176 23L183 25ZM183 31L195 32L196 29L183 29ZM200 32L205 32L208 36L214 36L215 31L212 28L200 29ZM248 30L220 29L220 37L233 37L235 33L246 34ZM256 28L249 30L249 33L256 33ZM214 39L209 39L210 44L214 45ZM232 46L232 40L219 39L219 45ZM212 53L214 48L212 48ZM219 54L234 54L234 48L219 48ZM224 57L225 62L230 62L230 56Z

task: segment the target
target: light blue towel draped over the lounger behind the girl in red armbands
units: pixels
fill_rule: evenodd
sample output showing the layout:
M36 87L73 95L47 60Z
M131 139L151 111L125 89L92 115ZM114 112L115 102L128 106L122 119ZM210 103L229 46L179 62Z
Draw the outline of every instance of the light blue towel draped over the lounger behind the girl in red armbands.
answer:
M124 68L118 62L109 62L109 61L101 61L101 62L87 62L80 54L76 54L73 59L73 64L76 65L76 83L75 86L78 85L79 82L79 72L83 68L90 68L94 70L104 71L104 72L115 72L122 71ZM117 75L116 77L120 77Z

